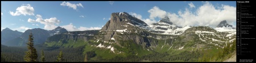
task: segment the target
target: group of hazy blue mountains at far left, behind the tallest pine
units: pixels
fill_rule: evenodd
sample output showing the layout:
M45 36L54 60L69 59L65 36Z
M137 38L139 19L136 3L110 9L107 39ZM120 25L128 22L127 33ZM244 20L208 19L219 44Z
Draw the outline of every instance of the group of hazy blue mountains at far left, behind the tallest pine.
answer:
M6 28L1 31L1 44L6 46L26 46L28 35L30 33L33 33L34 44L43 44L48 37L64 32L67 32L67 30L60 26L49 31L40 28L28 29L24 31L24 33Z

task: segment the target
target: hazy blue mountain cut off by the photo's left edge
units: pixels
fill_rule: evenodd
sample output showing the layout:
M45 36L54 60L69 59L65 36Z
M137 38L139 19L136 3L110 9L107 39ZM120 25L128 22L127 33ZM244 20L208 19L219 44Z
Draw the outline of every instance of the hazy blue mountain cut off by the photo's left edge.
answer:
M22 32L17 30L11 30L9 28L5 28L1 31L1 44L5 44L8 40L14 39L16 37L20 37Z

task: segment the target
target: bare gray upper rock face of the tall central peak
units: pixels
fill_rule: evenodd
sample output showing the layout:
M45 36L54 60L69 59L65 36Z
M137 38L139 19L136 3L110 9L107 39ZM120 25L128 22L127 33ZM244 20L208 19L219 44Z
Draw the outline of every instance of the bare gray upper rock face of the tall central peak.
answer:
M104 41L109 41L112 37L117 36L117 30L141 30L139 28L136 28L136 26L147 26L147 24L144 21L139 20L126 12L112 13L111 19L101 29L101 34L104 34L103 38L101 39Z

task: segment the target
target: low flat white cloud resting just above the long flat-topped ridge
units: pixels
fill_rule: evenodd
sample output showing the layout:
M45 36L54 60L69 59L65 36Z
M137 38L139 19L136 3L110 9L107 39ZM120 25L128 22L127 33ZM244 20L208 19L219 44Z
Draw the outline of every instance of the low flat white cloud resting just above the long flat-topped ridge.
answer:
M80 26L80 28L76 28L76 26L74 26L72 23L70 23L69 25L61 26L61 27L67 29L68 31L84 31L84 30L98 30L98 29L101 29L100 27L86 28L86 27L82 27L82 26Z

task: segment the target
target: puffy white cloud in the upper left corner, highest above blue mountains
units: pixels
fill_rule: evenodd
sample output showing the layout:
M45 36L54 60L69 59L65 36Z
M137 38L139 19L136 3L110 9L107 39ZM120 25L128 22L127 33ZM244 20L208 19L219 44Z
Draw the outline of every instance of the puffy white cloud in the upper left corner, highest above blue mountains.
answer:
M10 11L10 14L12 16L19 16L19 15L34 15L34 8L30 6L30 4L22 5L18 8L16 8L15 13Z

